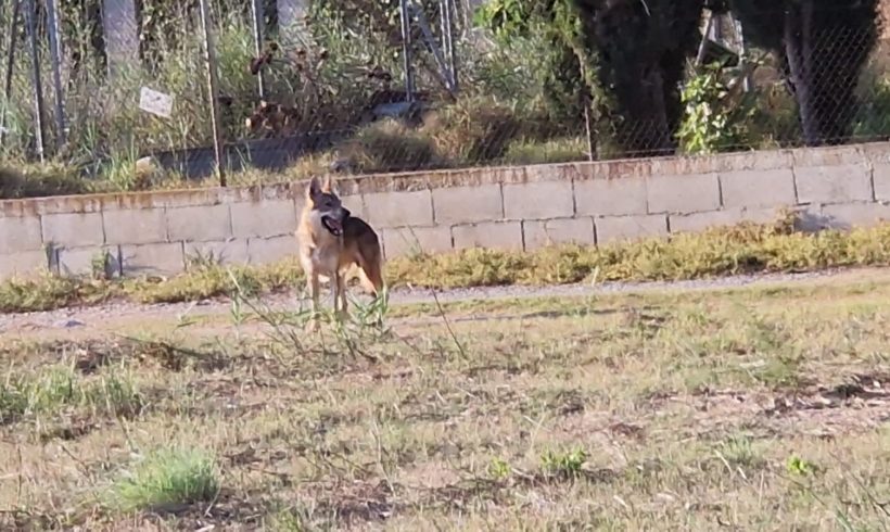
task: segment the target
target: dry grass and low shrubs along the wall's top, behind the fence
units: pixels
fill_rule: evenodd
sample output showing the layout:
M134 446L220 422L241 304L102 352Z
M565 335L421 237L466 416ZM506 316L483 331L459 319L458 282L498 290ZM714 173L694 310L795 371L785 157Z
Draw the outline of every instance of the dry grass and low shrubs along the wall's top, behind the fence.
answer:
M360 127L334 148L308 153L282 172L244 168L227 177L232 186L250 186L307 179L332 169L368 175L585 160L586 144L574 131L491 98L467 97L428 113L416 126L387 118ZM4 161L0 156L0 199L218 185L214 177L187 179L145 161L135 149L118 151L98 176L87 178L72 166Z

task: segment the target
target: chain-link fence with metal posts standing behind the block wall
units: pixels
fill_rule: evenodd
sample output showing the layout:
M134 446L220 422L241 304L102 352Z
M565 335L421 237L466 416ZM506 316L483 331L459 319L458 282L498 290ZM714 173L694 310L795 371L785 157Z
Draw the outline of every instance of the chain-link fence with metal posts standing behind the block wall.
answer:
M229 182L890 139L888 48L867 1L702 9L690 38L676 21L656 38L656 23L606 13L567 46L546 18L495 34L478 2L317 0L285 25L287 1L207 0L214 99L202 2L128 1L0 5L0 156L125 188L147 186L132 168L150 154L167 175L207 177L214 100ZM171 111L141 109L144 88Z

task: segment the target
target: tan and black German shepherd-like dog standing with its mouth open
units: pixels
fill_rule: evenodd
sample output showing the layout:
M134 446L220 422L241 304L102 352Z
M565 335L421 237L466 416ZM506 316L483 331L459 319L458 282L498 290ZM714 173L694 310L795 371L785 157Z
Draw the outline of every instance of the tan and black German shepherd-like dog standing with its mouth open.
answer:
M361 284L374 297L383 290L380 240L371 226L343 206L332 189L330 177L323 183L313 177L306 187L306 205L301 214L296 238L300 264L313 297L313 330L318 329L318 291L322 278L330 280L334 312L341 318L348 316L346 274L354 266L358 266Z

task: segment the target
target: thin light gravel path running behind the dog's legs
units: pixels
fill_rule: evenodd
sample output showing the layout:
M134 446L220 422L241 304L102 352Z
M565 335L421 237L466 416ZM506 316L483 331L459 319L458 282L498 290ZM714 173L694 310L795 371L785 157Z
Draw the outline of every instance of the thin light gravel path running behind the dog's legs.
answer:
M890 271L890 270L885 270ZM514 297L548 297L548 296L583 296L610 293L635 293L662 290L712 290L721 288L737 288L746 286L768 286L803 283L817 279L839 279L844 276L861 277L863 270L825 270L806 274L776 274L724 277L717 279L701 279L691 281L671 282L603 282L592 286L588 283L562 284L549 287L484 287L469 289L454 289L435 292L440 302L457 302L472 300L499 300ZM328 299L329 300L329 299ZM304 300L305 301L305 300ZM429 289L400 288L391 292L391 304L432 303L435 299ZM293 294L277 294L265 297L262 303L269 308L288 308L298 304L300 297ZM330 304L329 301L325 302ZM304 303L305 304L305 303ZM224 315L231 311L231 303L227 300L213 300L198 303L173 303L141 305L138 303L117 302L90 307L69 307L56 311L23 314L0 315L0 333L20 330L65 330L84 326L97 327L105 324L113 327L113 321L152 320L175 318L183 315Z

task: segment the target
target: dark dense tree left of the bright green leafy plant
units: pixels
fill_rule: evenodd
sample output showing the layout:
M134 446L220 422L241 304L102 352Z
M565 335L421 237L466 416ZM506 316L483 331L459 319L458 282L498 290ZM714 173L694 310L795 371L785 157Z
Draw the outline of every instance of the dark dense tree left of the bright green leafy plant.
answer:
M490 0L485 20L500 31L548 22L552 88L582 86L597 135L625 153L673 151L686 59L700 42L704 0ZM567 53L568 52L568 53ZM571 61L568 59L572 58ZM571 99L570 99L571 101Z

